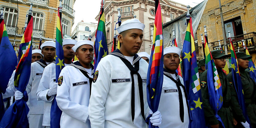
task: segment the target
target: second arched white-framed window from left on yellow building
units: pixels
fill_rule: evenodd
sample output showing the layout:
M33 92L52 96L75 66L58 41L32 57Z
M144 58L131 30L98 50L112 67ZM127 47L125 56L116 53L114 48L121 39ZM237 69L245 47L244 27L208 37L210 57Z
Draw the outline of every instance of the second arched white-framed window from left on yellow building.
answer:
M33 29L42 30L44 15L40 13L32 13L33 16Z

